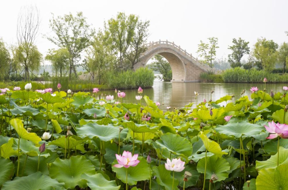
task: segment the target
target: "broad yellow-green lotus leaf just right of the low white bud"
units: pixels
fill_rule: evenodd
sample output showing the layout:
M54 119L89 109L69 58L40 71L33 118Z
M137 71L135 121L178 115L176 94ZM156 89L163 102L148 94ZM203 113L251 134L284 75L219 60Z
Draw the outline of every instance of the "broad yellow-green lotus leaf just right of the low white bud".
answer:
M69 143L68 143L68 138L69 138ZM62 149L65 149L65 144L66 144L66 149L76 149L82 152L85 152L84 145L81 143L83 140L76 140L75 138L71 138L71 136L67 137L66 136L61 136L60 138L51 141L48 145L56 145L58 147L61 147Z

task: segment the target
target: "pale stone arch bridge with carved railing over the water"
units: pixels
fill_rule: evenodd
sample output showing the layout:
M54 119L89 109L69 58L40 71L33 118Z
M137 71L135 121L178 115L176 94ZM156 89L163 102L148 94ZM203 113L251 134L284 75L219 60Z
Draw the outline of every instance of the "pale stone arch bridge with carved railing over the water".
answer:
M198 82L201 73L214 73L215 70L198 61L192 54L188 54L180 45L174 42L157 41L145 45L147 50L134 65L134 70L143 67L156 54L162 55L171 65L171 82Z

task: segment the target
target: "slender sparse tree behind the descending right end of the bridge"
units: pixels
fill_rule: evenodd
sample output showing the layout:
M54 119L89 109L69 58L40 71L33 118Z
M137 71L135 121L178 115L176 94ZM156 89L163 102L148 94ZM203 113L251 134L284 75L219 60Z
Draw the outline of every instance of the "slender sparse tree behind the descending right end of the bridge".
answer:
M197 53L200 53L199 56L204 59L205 64L213 68L215 65L215 62L213 61L216 58L216 49L219 48L217 46L218 38L210 37L208 40L209 43L204 43L202 40L200 40Z

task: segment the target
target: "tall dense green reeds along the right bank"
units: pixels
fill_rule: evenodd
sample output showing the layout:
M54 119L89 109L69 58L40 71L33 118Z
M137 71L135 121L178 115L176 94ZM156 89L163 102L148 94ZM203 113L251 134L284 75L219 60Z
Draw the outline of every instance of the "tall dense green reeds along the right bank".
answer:
M257 69L241 69L236 67L233 69L227 69L222 73L224 82L235 83L263 83L263 79L266 77L268 83L285 83L288 82L288 75L279 75L276 73L269 73L264 70Z

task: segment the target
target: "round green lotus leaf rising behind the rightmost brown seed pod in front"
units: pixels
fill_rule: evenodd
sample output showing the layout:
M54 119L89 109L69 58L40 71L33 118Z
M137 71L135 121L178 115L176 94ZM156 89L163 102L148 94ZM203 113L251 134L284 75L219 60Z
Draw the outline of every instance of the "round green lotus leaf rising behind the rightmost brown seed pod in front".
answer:
M198 161L197 171L203 174L204 170L205 158L202 158ZM229 170L230 165L223 157L217 157L216 155L207 157L206 179L211 179L212 174L215 173L218 176L216 181L225 180L228 178Z

